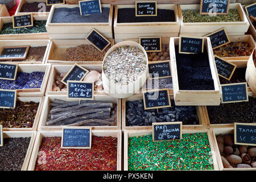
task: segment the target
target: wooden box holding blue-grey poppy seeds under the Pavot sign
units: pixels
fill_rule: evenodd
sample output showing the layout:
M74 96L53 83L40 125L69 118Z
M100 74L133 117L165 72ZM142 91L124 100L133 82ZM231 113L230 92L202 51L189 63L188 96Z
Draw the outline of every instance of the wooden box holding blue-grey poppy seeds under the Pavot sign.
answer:
M79 5L52 6L46 23L46 30L50 39L85 39L93 28L96 28L105 38L113 39L113 5L101 5L101 7L110 8L108 23L51 23L54 10L60 7L73 8L79 7Z

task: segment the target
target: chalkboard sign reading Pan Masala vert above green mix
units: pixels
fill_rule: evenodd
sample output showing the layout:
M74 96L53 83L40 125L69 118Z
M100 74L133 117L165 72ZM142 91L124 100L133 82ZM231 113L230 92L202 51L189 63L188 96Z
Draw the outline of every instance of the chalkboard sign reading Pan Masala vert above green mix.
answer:
M152 123L153 142L182 138L182 122Z

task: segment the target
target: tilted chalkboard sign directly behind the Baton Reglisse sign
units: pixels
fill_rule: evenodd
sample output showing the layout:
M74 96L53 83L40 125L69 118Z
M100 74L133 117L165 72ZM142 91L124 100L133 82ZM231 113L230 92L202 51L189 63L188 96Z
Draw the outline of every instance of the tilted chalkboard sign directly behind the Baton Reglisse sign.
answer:
M73 65L65 77L61 80L63 84L68 85L68 80L70 81L81 81L89 71L78 64Z

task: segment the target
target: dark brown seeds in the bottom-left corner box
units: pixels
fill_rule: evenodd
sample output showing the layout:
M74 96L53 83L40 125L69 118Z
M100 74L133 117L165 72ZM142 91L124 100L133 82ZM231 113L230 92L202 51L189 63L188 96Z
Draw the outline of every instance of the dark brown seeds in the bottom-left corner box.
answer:
M0 171L20 171L27 155L30 137L3 138L0 147Z

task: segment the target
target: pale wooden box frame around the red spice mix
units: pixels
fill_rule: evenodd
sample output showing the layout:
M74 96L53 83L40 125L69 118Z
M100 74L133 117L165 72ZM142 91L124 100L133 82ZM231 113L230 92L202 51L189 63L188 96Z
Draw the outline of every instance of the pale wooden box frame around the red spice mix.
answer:
M44 137L61 137L62 131L38 131L32 151L28 171L34 171L39 147ZM122 132L121 130L92 130L92 135L97 137L116 137L117 141L117 171L122 167ZM75 169L74 169L75 170Z

